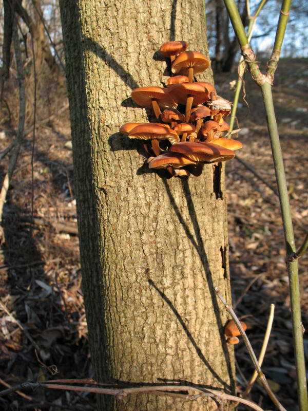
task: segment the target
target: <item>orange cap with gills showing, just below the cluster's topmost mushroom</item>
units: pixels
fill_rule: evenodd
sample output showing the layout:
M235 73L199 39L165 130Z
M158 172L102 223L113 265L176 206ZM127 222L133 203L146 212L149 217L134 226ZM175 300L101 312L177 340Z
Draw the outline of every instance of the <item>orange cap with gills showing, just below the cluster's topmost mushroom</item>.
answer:
M202 73L209 67L210 61L197 51L184 51L173 62L172 73L180 73L187 76L188 68L194 67L194 74Z

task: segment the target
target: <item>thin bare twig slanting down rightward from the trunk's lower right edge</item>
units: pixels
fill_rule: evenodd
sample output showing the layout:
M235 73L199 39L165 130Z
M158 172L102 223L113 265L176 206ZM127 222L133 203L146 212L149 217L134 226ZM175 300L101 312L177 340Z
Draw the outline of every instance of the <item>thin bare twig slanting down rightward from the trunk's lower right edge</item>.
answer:
M223 298L223 296L219 293L219 290L217 287L214 288L217 296L219 297L220 301L223 303L223 305L225 306L225 308L228 310L228 312L230 313L230 315L232 316L234 322L236 323L242 337L244 340L244 343L246 345L246 348L248 350L249 356L251 357L253 364L255 366L256 371L258 372L258 376L259 376L259 380L261 382L261 384L263 385L263 387L266 390L266 393L268 394L268 396L272 399L272 401L274 402L274 404L276 405L276 407L280 410L280 411L286 411L286 409L280 404L280 402L278 401L278 399L276 398L275 394L273 393L273 391L271 390L271 388L269 387L266 378L264 376L263 371L261 370L261 367L258 363L256 354L253 350L253 347L250 343L250 341L248 340L248 337L236 315L236 313L234 312L234 310L232 309L232 307L230 307L227 302L225 301L225 299Z

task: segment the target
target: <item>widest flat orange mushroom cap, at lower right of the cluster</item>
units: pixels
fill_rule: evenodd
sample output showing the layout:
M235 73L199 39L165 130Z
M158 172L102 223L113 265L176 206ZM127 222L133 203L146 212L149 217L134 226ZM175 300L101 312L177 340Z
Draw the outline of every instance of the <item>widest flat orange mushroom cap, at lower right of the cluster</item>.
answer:
M181 142L172 145L169 149L172 153L182 153L193 161L226 161L231 160L235 154L227 148L204 142Z

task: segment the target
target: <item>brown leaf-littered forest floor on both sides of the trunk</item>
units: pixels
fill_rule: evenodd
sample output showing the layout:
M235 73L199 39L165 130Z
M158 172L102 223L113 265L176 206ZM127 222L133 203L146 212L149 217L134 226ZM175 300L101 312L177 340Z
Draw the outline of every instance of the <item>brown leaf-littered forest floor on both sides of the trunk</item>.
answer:
M236 73L215 76L218 94L230 101L230 81ZM274 99L283 149L297 246L308 217L307 137L308 61L281 60L275 78ZM13 85L11 84L11 87ZM245 83L237 117L244 148L240 159L276 186L260 90ZM9 91L9 90L8 90ZM0 129L0 151L12 141L16 125L14 101L7 99L6 120ZM9 110L10 109L10 110ZM67 99L57 102L57 114L38 112L34 152L34 227L31 221L31 123L18 159L4 208L4 238L0 250L0 386L52 377L89 378L87 325L79 263L79 240L73 195L73 167ZM11 117L11 118L10 118ZM44 121L44 119L49 119ZM2 160L4 177L8 158ZM283 405L297 410L296 374L284 239L276 194L237 160L226 165L230 273L233 303L248 325L247 334L258 353L269 306L275 320L263 371ZM303 326L308 327L308 258L299 263ZM18 322L18 324L16 323ZM305 338L308 359L308 338ZM37 349L36 358L33 347ZM253 368L245 346L235 348L239 392ZM52 391L52 392L51 392ZM273 409L258 385L252 399ZM91 394L36 390L0 399L3 409L94 409Z

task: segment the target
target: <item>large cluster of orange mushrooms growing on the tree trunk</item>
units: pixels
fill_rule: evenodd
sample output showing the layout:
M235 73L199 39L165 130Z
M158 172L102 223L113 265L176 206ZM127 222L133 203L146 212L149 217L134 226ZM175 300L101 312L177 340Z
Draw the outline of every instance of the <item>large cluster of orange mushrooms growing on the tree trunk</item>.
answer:
M242 147L223 136L229 129L224 117L231 112L230 103L217 96L213 85L195 81L210 61L196 51L186 51L187 47L184 41L161 46L174 74L166 81L167 87L140 87L131 92L135 103L153 110L157 122L126 123L120 128L128 138L145 140L150 169L166 169L176 177L200 176L204 163L231 160Z

